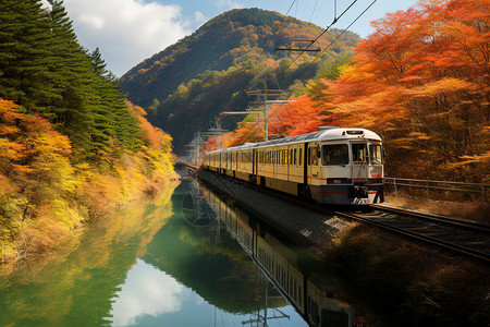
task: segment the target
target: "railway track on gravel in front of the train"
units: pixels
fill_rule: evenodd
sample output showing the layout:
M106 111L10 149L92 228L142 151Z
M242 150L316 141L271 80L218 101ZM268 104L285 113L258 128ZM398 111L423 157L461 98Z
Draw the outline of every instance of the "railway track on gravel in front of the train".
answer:
M489 225L387 205L372 205L370 209L335 214L490 264Z

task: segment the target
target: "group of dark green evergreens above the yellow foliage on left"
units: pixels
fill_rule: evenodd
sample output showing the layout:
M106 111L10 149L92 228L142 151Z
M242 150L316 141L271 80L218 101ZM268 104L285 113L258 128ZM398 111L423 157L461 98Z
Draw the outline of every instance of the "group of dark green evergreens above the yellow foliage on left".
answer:
M78 44L63 0L0 2L0 97L40 112L83 157L137 150L139 121L97 48Z

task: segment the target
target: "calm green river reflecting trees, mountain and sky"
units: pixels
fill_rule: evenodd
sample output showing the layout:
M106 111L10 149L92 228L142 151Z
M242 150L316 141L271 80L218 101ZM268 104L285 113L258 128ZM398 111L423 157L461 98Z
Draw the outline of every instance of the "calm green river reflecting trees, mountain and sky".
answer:
M307 326L290 304L310 282L299 256L267 232L241 228L249 219L184 179L157 203L126 207L57 253L1 267L0 326ZM280 292L254 251L282 261L303 284ZM352 310L324 301L329 316L348 326Z

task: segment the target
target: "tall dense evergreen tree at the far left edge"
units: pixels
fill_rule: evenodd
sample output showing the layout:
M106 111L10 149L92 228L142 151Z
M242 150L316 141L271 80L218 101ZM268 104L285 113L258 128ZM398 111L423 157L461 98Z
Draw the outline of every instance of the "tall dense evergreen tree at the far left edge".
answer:
M0 97L52 118L47 107L60 95L46 11L36 0L4 0L0 22Z

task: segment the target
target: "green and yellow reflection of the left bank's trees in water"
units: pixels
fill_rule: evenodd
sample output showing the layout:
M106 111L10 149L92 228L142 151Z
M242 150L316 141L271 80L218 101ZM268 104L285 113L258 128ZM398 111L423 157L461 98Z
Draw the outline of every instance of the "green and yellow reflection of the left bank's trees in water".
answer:
M108 326L114 294L172 216L175 185L99 219L51 255L0 267L0 326Z

